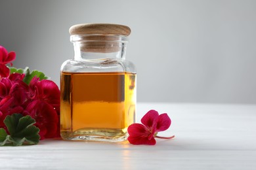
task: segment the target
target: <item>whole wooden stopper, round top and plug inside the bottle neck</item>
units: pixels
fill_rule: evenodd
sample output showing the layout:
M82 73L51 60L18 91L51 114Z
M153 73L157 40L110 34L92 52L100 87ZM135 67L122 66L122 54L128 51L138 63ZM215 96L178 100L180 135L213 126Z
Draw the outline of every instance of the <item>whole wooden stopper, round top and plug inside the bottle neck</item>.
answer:
M70 27L71 41L79 41L79 48L83 52L118 52L124 47L123 40L131 29L117 24L78 24ZM125 36L125 37L124 37Z

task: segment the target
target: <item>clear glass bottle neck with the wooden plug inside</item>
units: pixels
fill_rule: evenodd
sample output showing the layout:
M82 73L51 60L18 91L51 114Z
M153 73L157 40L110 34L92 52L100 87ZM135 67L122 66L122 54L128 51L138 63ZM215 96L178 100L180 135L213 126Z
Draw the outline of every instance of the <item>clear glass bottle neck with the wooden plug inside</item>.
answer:
M127 37L123 35L72 35L75 60L125 59Z

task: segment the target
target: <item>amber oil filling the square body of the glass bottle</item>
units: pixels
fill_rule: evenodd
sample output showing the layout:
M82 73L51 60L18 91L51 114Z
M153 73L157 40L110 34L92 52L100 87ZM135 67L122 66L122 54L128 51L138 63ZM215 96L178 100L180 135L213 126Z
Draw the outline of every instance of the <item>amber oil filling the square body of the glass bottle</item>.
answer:
M60 134L64 140L123 141L135 122L135 73L60 76Z

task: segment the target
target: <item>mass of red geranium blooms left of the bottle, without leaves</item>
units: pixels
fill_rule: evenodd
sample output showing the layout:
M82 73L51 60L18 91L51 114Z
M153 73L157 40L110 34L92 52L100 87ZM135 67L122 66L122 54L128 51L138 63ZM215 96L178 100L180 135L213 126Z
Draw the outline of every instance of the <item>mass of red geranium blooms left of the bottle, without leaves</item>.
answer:
M0 46L0 128L6 116L20 113L30 115L39 127L42 139L60 137L60 90L51 80L39 80L34 75L29 84L24 82L30 73L12 73L7 67L16 58ZM12 63L11 63L12 66ZM27 77L28 78L28 77Z

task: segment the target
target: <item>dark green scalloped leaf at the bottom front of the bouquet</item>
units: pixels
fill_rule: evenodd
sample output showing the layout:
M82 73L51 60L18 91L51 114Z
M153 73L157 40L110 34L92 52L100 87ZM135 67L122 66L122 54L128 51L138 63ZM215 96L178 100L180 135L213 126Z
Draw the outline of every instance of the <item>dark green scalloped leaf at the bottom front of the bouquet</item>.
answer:
M31 116L12 114L11 116L6 116L4 123L10 135L7 135L5 129L0 129L1 146L7 142L12 143L14 146L20 146L25 142L29 144L39 143L39 128L33 126L35 120Z

